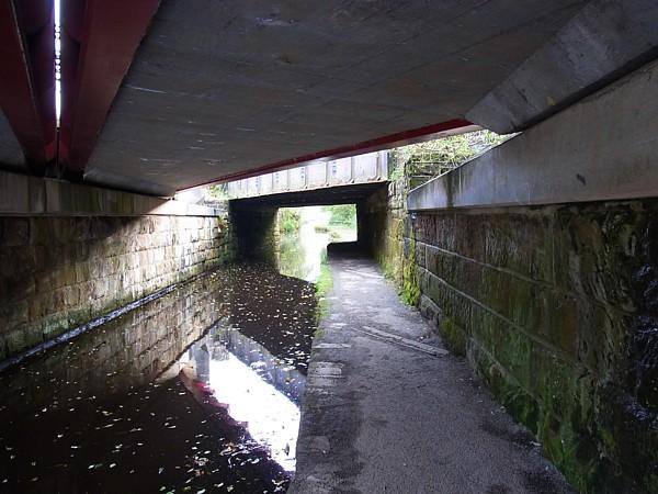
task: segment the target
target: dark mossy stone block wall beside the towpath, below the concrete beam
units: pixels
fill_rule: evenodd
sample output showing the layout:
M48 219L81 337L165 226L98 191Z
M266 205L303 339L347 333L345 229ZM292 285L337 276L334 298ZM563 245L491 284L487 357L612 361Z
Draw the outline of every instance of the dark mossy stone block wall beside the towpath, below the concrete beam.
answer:
M658 489L658 201L419 214L420 307L581 492Z

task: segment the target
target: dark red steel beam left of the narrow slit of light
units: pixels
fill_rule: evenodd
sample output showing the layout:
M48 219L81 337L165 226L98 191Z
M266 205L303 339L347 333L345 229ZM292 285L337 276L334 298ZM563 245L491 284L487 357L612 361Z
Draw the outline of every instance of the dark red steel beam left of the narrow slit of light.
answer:
M50 0L0 1L0 106L27 164L55 157L55 33Z

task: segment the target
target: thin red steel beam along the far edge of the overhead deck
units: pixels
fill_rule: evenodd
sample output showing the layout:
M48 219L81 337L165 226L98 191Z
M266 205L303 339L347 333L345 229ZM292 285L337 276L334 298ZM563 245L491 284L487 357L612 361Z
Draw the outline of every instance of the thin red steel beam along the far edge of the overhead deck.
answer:
M449 120L446 122L442 122L434 125L413 128L411 131L402 131L396 134L388 134L383 137L377 137L371 141L362 141L361 143L349 144L347 146L340 146L333 149L326 149L322 151L299 156L297 158L272 162L270 165L251 168L247 171L238 171L236 173L224 175L222 177L217 177L202 183L184 187L182 189L179 189L179 191L194 189L195 187L209 186L212 183L228 182L231 180L240 180L263 173L270 173L272 171L293 168L305 162L315 161L316 159L322 159L328 161L331 159L347 158L349 156L363 155L365 153L374 153L382 149L389 149L392 147L406 146L408 144L413 144L421 141L431 141L433 138L439 138L442 133L468 126L473 126L473 124L467 120Z

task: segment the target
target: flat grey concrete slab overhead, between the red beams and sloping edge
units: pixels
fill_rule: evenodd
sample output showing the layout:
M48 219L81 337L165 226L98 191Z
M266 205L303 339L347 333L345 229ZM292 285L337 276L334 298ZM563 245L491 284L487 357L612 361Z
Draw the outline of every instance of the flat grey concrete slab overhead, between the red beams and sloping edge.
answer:
M198 3L162 2L89 179L167 191L458 119L582 4Z

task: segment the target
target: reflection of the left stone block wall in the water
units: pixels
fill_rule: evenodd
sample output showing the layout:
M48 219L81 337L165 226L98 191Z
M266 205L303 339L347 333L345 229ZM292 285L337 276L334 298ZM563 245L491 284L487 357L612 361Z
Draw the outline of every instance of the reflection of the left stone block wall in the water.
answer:
M80 395L111 401L116 393L139 389L158 377L175 375L178 368L166 375L160 373L208 327L228 316L224 302L223 279L200 277L110 321L103 330L83 334L73 346L64 345L45 352L27 371L11 370L4 380L8 385L0 389L0 402L8 403L22 393L25 400L12 403L12 414L32 414L44 406L54 412L53 403L66 403ZM35 381L45 382L45 375L52 382L71 381L76 385L35 386ZM98 408L99 402L89 405ZM77 409L77 414L70 414L68 407L61 412L70 417L66 422L79 420L81 413Z

